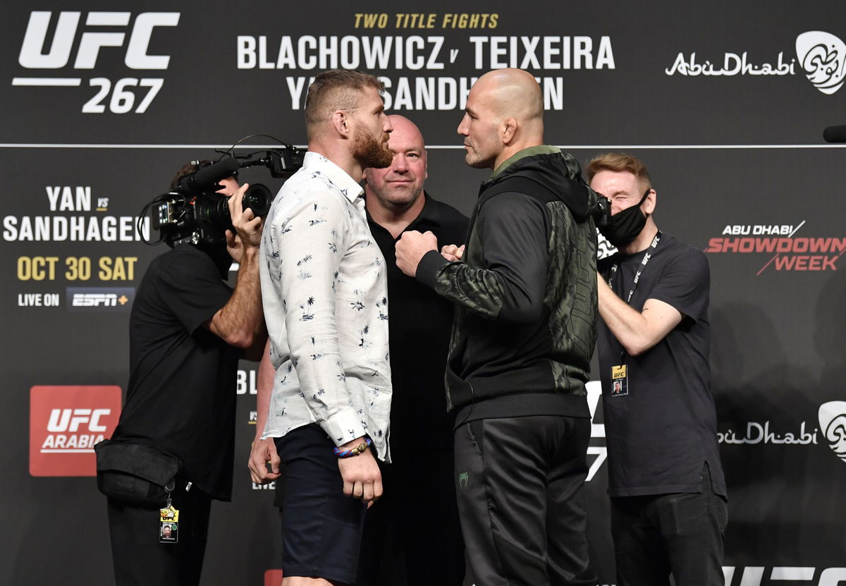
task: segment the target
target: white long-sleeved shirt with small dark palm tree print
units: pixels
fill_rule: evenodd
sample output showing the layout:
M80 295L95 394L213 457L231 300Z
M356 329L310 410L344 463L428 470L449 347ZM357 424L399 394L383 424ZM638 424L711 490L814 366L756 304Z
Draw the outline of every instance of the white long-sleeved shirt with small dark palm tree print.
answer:
M276 368L262 439L315 422L336 445L368 434L388 459L385 259L367 226L361 186L306 152L267 215L261 259Z

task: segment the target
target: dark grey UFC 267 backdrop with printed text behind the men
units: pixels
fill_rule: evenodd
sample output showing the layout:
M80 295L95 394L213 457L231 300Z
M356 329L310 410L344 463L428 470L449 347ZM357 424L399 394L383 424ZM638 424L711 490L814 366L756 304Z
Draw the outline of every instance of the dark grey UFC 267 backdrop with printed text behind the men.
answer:
M0 549L0 583L112 583L92 446L118 421L129 311L164 250L145 244L157 232L138 221L142 207L191 159L236 143L239 154L304 147L305 92L336 67L384 80L387 111L426 138L427 191L464 213L486 172L464 164L456 127L490 69L536 75L548 144L583 164L620 150L644 160L657 224L711 264L726 584L846 583L846 150L822 140L846 124L846 5L470 4L5 9L0 522L14 539ZM242 179L281 185L261 167ZM233 502L212 507L209 586L279 576L275 487L252 484L246 468L257 364L240 368ZM591 552L600 583L613 584L598 404Z

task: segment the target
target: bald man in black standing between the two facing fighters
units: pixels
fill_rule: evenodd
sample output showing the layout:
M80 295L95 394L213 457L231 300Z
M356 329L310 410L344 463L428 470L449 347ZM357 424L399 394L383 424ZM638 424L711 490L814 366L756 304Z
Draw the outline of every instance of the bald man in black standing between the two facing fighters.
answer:
M423 136L409 119L390 119L393 163L365 170L365 197L387 263L391 463L380 462L385 492L367 513L356 585L460 586L464 542L453 485L453 416L443 388L453 306L404 275L393 250L406 230L462 243L468 219L423 191Z

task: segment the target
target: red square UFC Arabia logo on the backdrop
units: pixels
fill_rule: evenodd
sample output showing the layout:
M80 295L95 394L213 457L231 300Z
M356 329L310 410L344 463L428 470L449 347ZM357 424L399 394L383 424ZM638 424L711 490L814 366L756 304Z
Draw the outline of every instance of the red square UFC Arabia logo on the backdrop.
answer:
M30 474L94 476L94 445L118 425L118 386L30 389Z

